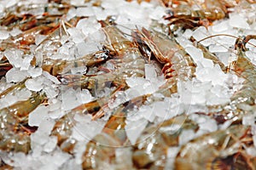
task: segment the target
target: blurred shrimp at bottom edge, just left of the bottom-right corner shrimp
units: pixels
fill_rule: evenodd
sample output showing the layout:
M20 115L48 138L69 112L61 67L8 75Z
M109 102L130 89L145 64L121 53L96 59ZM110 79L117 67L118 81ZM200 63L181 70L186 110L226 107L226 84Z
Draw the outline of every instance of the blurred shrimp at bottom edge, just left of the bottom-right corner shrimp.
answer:
M198 128L199 126L184 114L166 120L159 125L146 127L133 147L132 161L134 165L138 169L164 168L168 148L178 146L179 136L184 130L196 132Z

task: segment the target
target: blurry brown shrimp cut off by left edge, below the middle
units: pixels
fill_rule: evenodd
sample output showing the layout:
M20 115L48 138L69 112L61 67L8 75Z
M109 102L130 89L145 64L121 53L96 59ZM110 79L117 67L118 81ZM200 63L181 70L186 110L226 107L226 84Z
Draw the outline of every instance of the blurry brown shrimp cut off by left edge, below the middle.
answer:
M0 110L0 150L28 153L32 133L32 127L27 125L28 114L44 100L44 93L32 93L29 99Z

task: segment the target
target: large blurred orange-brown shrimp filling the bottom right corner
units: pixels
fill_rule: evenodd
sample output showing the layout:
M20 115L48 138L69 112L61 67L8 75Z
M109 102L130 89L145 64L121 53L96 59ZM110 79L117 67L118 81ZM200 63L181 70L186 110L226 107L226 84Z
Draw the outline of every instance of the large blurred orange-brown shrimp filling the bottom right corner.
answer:
M256 158L247 153L253 145L251 127L234 125L207 133L183 145L175 169L255 169Z

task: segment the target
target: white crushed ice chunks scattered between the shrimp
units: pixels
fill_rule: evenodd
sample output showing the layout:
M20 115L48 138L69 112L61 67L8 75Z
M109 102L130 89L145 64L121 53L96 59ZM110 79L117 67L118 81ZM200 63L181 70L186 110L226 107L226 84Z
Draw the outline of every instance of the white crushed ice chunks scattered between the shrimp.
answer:
M83 5L82 1L73 0L71 2L73 5ZM18 1L4 1L4 7L7 8L15 3L18 3ZM45 3L47 2L45 1ZM3 11L2 8L3 5L0 4L0 11ZM120 30L129 34L131 31L125 26L130 29L136 28L136 26L149 27L151 20L161 20L162 16L166 14L163 7L155 7L154 1L139 5L135 1L128 3L125 1L106 0L102 2L102 8L92 7L91 4L86 7L70 8L67 13L67 20L76 16L86 16L88 18L79 20L77 26L67 29L68 36L62 37L61 48L56 51L47 49L49 57L53 59L75 59L97 51L106 39L105 35L100 31L101 25L97 20L105 20L108 15L115 16ZM218 65L213 64L212 60L205 59L201 49L195 48L189 38L194 37L196 41L200 41L215 34L230 34L234 36L253 34L255 33L255 24L253 26L249 25L247 21L250 19L247 19L247 16L244 13L230 14L230 20L215 21L213 26L209 26L207 29L201 26L195 31L187 30L183 35L177 37L177 42L185 48L197 65L195 77L187 82L178 81L177 94L172 97L156 101L151 105L133 108L127 113L125 133L131 144L136 144L138 137L143 133L148 122L160 123L184 112L188 115L190 114L191 119L198 123L199 131L196 133L192 130L183 131L179 137L179 146L168 149L167 157L170 158L170 168L173 168L172 163L180 145L188 143L189 140L195 139L203 133L214 132L218 128L225 129L230 126L230 122L225 122L220 126L212 118L195 115L195 112L207 112L207 106L229 103L230 97L241 88L241 83L244 79L231 73L224 73ZM237 22L237 20L241 20L241 22ZM19 32L20 30L10 32L0 30L0 39L7 39L10 35L15 36ZM44 39L44 36L37 36L36 45L39 45ZM216 53L224 65L229 65L230 61L234 60L232 58L234 55L232 54L234 52L232 49L235 42L236 39L233 37L222 36L212 37L201 43L207 46L210 52ZM250 42L255 44L254 40ZM255 64L256 49L249 44L247 44L247 48L250 48L250 51L246 55ZM36 56L37 60L42 57L39 53L40 51ZM30 65L32 55L23 54L19 49L9 49L3 54L14 65L14 68L7 72L6 80L3 79L3 82L0 82L3 87L8 88L9 83L20 82L26 77L32 78L26 80L26 89L24 91L14 95L7 95L5 98L0 99L1 108L12 105L16 101L28 99L31 91L38 92L43 90L49 98L49 105L38 106L28 117L28 124L38 127L38 130L31 135L32 151L28 155L1 152L0 156L3 161L21 169L81 168L82 155L87 142L93 139L96 134L102 132L106 122L102 120L92 122L89 115L74 117L77 123L73 128L72 137L78 141L74 149L74 156L61 151L57 146L56 137L50 136L50 132L61 116L81 104L90 102L94 99L93 95L87 89L79 90L78 88L62 87L56 77L49 75L46 71L42 71L40 67L32 67ZM108 69L113 70L113 66L109 63ZM76 67L71 72L81 75L86 69L86 67ZM129 88L115 94L115 99L108 102L109 109L116 108L118 105L135 99L137 96L154 94L165 80L162 75L158 75L155 65L146 64L145 77L130 77L125 82ZM232 88L230 88L230 85ZM5 88L1 87L0 90L3 91ZM106 91L109 92L111 89L106 89ZM154 95L162 97L161 94ZM253 117L254 115L244 116L242 124L255 126ZM104 118L108 120L108 116ZM253 141L256 144L255 135ZM247 152L253 156L256 155L256 149L253 147L247 148ZM119 164L131 158L131 154L127 150L117 149L115 154L119 156ZM125 158L129 159L122 160L121 156L126 156Z

